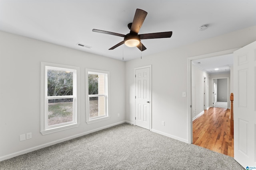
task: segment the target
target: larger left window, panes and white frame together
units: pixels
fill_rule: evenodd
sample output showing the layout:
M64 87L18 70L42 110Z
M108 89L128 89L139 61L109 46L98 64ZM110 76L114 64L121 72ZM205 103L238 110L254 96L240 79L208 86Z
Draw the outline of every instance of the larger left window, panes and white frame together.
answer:
M41 133L78 127L79 68L41 63Z

